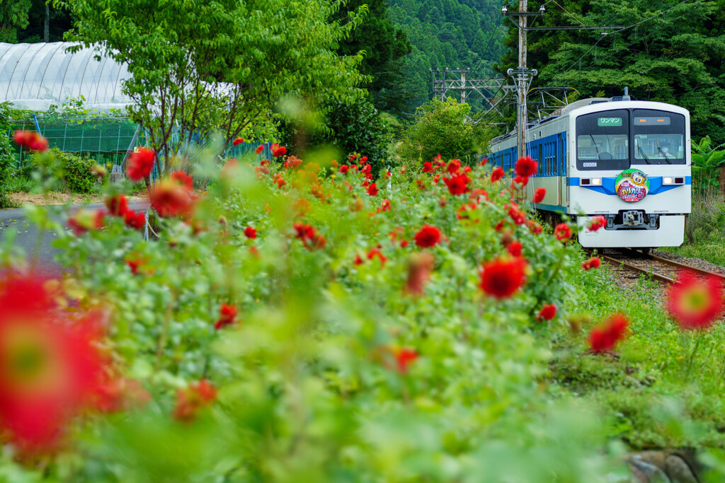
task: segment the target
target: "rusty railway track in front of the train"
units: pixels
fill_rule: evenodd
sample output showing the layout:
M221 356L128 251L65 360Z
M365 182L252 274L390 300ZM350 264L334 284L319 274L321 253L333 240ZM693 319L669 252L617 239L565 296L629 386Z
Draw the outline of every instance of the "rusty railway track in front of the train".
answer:
M591 253L591 251L587 251ZM604 252L599 253L597 256L608 263L612 269L631 272L632 278L645 274L657 282L674 284L676 283L677 274L681 270L689 270L702 277L714 275L725 284L725 276L722 274L663 259L649 253L641 253L630 248L606 249Z

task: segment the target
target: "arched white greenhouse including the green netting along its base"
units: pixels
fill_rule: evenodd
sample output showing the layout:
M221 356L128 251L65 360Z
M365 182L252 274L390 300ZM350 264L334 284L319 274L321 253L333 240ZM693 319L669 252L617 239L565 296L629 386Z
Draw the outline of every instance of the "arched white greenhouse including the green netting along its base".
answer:
M128 69L94 49L71 54L67 49L74 45L0 43L0 102L14 109L7 135L17 129L37 130L51 147L120 164L140 132L138 125L120 117L131 103L121 89ZM69 101L82 102L88 114L57 114L58 106ZM18 148L18 161L24 158Z

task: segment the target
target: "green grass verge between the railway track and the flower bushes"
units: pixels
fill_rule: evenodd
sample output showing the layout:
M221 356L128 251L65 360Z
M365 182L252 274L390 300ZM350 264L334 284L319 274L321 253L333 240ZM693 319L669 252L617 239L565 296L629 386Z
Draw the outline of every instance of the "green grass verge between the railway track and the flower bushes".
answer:
M554 329L550 390L599 408L607 436L634 450L725 448L725 326L682 332L650 282L624 292L611 276L602 268L571 280L576 297ZM589 353L590 330L616 311L629 317L629 337L617 353Z

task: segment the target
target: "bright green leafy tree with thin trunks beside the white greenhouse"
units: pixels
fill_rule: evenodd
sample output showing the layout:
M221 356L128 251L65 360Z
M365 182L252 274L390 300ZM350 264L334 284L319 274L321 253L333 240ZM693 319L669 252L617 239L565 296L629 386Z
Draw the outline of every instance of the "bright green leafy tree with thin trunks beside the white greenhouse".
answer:
M128 64L130 117L163 152L159 171L193 138L254 137L283 95L354 101L355 66L336 46L360 22L329 19L343 2L55 0L78 18L68 41Z

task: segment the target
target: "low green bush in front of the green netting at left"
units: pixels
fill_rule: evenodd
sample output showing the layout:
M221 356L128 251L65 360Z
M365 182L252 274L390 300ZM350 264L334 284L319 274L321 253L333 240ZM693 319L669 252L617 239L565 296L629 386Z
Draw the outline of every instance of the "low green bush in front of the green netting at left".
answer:
M58 148L34 154L30 166L34 170L33 177L46 188L91 194L99 186L98 176L93 172L94 159L81 158Z

